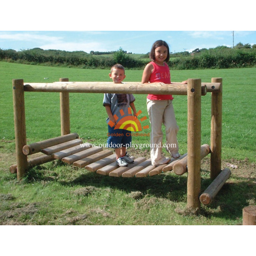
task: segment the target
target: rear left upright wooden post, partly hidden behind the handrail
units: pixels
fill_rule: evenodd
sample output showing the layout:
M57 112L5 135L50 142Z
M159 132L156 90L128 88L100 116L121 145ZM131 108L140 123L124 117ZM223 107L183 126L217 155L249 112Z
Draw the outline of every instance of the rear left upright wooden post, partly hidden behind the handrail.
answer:
M59 78L60 82L68 82L69 78ZM60 97L60 126L61 136L70 134L70 110L69 110L69 93L59 93Z

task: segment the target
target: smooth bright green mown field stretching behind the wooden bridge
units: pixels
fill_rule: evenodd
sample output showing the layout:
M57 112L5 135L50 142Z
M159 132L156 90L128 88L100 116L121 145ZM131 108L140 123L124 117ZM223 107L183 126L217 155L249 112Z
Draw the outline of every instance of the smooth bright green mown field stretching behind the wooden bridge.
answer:
M127 70L124 81L140 81L142 70ZM111 81L109 70L84 70L19 65L0 62L1 75L1 139L14 139L12 79L25 82L54 82L60 77L70 81ZM201 78L210 82L211 77L223 78L223 134L224 158L255 161L255 75L256 68L228 70L171 71L172 81ZM45 80L44 78L49 78ZM135 95L137 111L147 116L146 95ZM59 94L25 93L26 124L29 141L47 139L60 134ZM106 140L106 113L102 94L70 94L71 132L95 143ZM186 96L175 96L174 108L180 127L178 140L181 153L186 151L187 103ZM148 119L144 121L149 124ZM144 124L143 123L143 124ZM148 131L149 132L149 131ZM134 138L134 143L148 143L147 138ZM202 97L202 144L210 143L210 94Z

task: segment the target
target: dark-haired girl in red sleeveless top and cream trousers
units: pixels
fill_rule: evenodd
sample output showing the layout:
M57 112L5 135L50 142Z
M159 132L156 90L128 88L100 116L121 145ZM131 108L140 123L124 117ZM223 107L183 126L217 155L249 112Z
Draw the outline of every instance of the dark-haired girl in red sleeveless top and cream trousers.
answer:
M148 63L143 71L142 83L162 82L170 84L170 71L168 68L169 47L163 40L157 40L150 52L151 62ZM183 81L182 83L187 83ZM166 132L166 150L173 158L179 158L179 146L177 125L172 95L147 95L147 112L151 123L151 161L152 165L168 163L170 158L165 158L162 154L162 123Z

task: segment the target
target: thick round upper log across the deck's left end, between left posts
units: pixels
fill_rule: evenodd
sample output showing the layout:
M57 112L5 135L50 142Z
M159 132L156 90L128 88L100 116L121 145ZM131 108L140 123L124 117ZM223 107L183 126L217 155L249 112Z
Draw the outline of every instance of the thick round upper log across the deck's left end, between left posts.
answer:
M67 142L70 140L78 139L78 138L79 138L79 135L77 133L71 133L71 134L55 137L52 139L28 144L23 147L23 154L26 156L32 155L32 154L40 152L40 150L42 150L46 147L54 146L54 145L57 145L57 144L60 144L63 142Z

